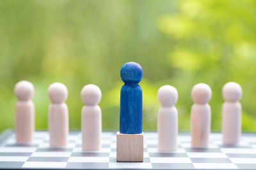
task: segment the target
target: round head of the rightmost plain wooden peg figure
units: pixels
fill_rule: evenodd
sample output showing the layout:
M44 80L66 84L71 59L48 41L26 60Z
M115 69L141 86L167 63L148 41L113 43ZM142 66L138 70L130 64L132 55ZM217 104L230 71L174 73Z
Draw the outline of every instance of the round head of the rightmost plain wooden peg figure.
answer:
M228 82L223 86L222 96L228 102L239 101L242 97L242 88L238 83Z

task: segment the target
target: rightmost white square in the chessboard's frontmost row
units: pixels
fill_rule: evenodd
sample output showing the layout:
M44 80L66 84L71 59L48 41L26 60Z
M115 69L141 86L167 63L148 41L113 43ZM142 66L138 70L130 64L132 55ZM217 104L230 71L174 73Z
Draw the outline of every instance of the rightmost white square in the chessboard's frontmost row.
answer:
M238 169L235 164L230 163L194 163L193 166L195 167L195 169Z

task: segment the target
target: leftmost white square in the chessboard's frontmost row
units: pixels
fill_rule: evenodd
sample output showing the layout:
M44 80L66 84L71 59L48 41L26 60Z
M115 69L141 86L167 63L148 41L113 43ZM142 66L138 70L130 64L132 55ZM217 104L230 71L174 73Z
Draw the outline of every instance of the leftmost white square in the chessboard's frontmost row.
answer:
M23 168L65 168L67 162L25 162Z

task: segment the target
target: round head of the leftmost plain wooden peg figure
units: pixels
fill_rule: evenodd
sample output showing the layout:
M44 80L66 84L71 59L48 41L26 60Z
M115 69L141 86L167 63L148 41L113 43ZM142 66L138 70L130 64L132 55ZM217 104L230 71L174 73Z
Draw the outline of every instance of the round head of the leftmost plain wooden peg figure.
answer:
M19 81L14 92L19 101L29 101L35 94L35 88L29 81Z

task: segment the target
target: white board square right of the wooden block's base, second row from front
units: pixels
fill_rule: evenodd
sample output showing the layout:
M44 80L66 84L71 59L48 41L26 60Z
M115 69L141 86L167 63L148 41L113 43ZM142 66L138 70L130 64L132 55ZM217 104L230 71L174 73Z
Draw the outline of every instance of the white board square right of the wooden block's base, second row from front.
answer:
M192 163L188 157L150 157L151 163Z

